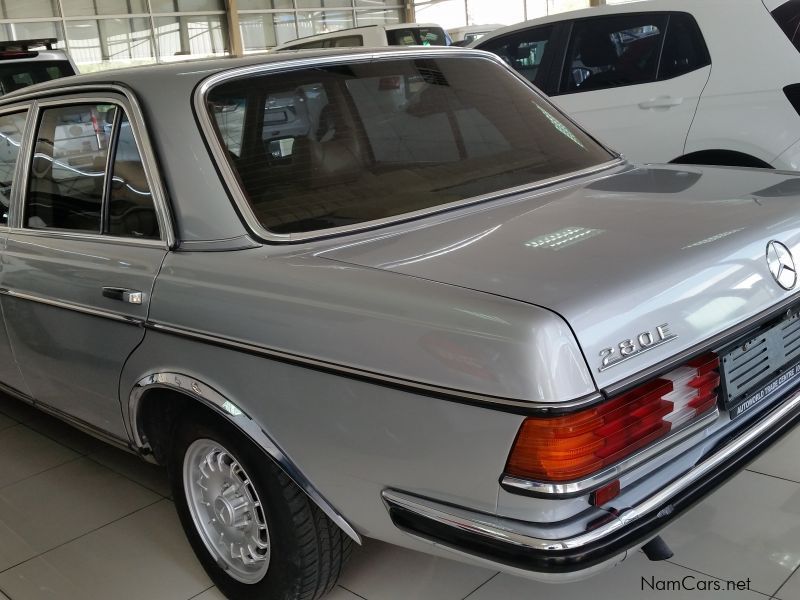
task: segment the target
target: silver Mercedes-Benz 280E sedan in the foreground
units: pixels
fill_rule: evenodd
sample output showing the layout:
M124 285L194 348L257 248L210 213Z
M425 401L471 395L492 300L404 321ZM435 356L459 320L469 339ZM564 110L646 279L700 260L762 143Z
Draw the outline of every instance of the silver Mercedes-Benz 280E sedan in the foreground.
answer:
M630 165L492 55L98 73L0 132L2 388L166 465L230 598L362 536L664 558L800 418L800 177Z

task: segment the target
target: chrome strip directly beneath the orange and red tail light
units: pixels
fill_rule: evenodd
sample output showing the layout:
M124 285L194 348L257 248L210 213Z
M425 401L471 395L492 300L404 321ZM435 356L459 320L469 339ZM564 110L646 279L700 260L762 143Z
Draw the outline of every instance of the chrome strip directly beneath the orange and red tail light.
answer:
M575 498L583 496L602 485L618 479L629 471L644 464L652 458L674 448L684 440L690 438L697 432L713 425L720 416L719 408L715 408L712 412L703 415L696 421L686 423L684 426L672 431L665 438L658 440L652 446L646 446L636 454L625 458L618 463L611 465L593 473L589 477L575 481L564 482L548 482L536 481L534 479L525 479L522 477L513 477L511 475L503 475L500 479L500 485L506 491L512 493L521 493L526 496L534 496L541 498Z

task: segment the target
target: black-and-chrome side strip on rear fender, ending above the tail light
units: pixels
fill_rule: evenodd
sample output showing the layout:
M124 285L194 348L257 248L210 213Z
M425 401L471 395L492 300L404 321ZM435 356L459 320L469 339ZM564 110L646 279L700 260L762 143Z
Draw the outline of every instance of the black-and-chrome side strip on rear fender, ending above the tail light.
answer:
M263 356L265 358L278 360L296 366L312 368L319 371L348 377L350 379L363 380L374 385L381 385L384 387L389 386L408 392L422 393L424 395L433 396L442 400L462 402L465 404L472 404L484 408L492 408L495 410L505 410L506 412L512 412L520 415L546 414L553 416L560 414L561 412L569 412L578 408L597 404L598 402L602 402L604 399L601 394L594 393L565 402L554 401L552 403L547 403L533 402L529 400L516 400L501 396L489 396L480 393L476 394L467 392L465 390L445 388L436 384L427 384L409 379L403 379L394 375L377 373L375 371L369 371L360 367L333 363L312 356L293 354L277 348L270 348L267 346L260 346L257 344L224 338L195 329L174 327L166 323L148 320L145 323L145 327L165 334L176 335L204 343L211 343L215 346L231 348L239 352Z

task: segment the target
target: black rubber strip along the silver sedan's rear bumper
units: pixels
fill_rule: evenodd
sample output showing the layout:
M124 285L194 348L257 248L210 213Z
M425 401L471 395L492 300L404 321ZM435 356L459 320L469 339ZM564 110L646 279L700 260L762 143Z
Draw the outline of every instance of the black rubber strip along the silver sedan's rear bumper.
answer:
M456 529L396 505L390 504L389 514L392 522L403 531L509 567L549 573L581 571L605 562L657 535L667 524L739 473L747 463L778 441L798 422L800 422L800 409L790 419L771 430L768 435L749 446L746 452L725 463L702 484L681 492L658 510L653 510L611 536L581 548L548 551L526 549ZM608 519L614 518L616 517L609 513ZM597 527L604 522L607 520L603 519L594 525Z

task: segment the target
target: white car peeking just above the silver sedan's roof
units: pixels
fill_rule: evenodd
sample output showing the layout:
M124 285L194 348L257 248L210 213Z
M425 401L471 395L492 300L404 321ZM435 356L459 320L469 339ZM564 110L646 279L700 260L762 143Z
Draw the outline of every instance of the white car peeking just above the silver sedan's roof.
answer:
M434 23L397 23L365 25L320 33L286 42L274 50L308 50L312 48L356 48L358 46L449 46L450 36Z

